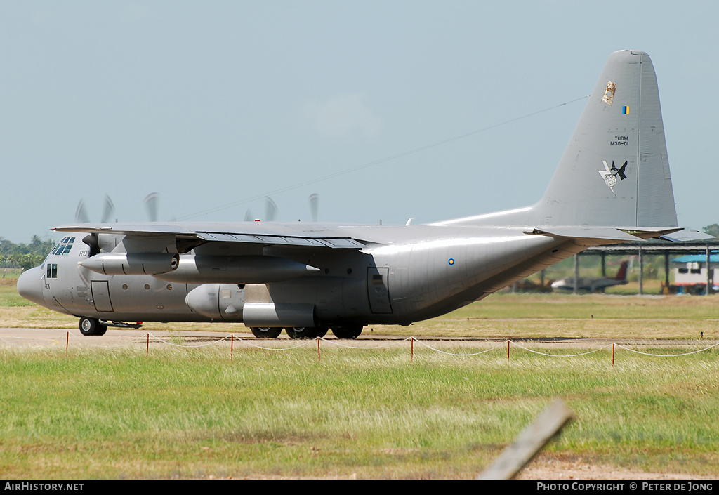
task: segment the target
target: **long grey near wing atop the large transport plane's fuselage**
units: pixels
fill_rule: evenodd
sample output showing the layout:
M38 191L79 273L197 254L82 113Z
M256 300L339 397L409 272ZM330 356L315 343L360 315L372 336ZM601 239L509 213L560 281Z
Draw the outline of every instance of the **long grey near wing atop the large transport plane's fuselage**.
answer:
M298 222L299 223L299 222ZM259 222L222 223L137 223L78 224L55 227L56 232L87 232L90 234L127 235L136 240L173 236L177 240L199 245L204 242L243 242L262 245L329 247L361 249L366 242L354 239L339 227L306 223L263 224ZM192 242L196 241L196 242Z

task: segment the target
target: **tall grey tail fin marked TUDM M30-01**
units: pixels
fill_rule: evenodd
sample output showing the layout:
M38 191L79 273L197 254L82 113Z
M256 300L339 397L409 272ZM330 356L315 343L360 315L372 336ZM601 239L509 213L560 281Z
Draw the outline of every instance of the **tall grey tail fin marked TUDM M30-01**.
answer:
M677 227L649 55L610 56L531 216L538 226Z

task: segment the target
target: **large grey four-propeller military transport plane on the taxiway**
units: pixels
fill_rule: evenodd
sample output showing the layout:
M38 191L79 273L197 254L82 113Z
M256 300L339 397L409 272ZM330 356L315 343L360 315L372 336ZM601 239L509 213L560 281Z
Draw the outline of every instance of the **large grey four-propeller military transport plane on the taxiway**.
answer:
M609 164L612 164L610 168ZM616 164L616 165L615 165ZM613 53L544 196L431 224L98 223L70 233L19 293L80 318L244 322L257 337L354 338L485 298L586 247L679 232L649 55ZM677 234L676 232L679 232ZM667 237L672 235L672 238Z

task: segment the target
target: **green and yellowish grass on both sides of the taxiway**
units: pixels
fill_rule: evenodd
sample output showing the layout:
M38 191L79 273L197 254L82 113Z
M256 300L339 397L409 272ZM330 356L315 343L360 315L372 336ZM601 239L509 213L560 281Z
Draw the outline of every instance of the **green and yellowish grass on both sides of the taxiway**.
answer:
M0 286L0 326L76 328ZM14 290L14 288L12 288ZM495 294L367 334L717 340L717 296ZM165 328L158 324L158 328ZM178 324L183 330L237 326ZM242 328L242 327L240 327ZM102 338L102 337L99 337ZM361 337L360 337L361 338ZM446 348L472 353L473 348ZM676 354L683 349L649 350ZM554 350L575 354L577 350ZM535 463L719 476L719 352L0 351L3 478L472 478L555 397ZM555 476L556 477L556 476Z

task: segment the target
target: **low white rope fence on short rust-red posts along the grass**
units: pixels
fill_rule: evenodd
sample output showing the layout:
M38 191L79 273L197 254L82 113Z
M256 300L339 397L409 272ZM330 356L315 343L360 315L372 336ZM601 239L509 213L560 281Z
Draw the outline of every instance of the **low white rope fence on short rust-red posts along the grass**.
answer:
M70 332L65 332L64 340L65 340L65 354L66 355L70 349L70 337L71 336L73 337L73 340L83 338L83 337L78 337L77 335L70 334ZM61 337L58 337L56 339L48 339L48 338L39 338L39 337L25 337L22 335L21 336L0 337L0 341L5 342L8 345L15 345L16 347L21 347L22 341L27 342L27 341L33 341L33 340L40 341L41 343L39 345L29 345L29 346L25 345L24 348L37 349L37 348L55 347L55 346L61 344L63 339ZM324 337L316 337L315 339L308 339L308 340L292 340L292 341L290 341L290 342L292 342L291 345L285 345L284 342L286 342L286 341L283 341L280 345L277 345L278 341L262 340L262 339L246 339L246 338L242 338L242 337L237 337L234 334L230 334L230 335L226 335L224 337L216 338L214 340L208 340L207 342L200 342L198 344L190 345L190 344L186 343L185 337L183 337L182 335L170 336L170 338L168 339L168 338L157 337L157 335L152 335L150 332L147 332L145 335L142 335L141 337L137 337L134 340L131 340L129 342L124 342L122 344L95 345L93 347L104 348L104 349L129 348L129 347L135 347L135 346L137 346L138 343L141 343L141 344L145 345L145 355L149 357L150 342L160 343L160 344L168 345L170 347L175 347L175 348L193 349L193 348L208 348L211 346L221 345L224 342L226 342L227 340L229 340L229 342L230 342L230 345L229 345L230 360L232 360L232 357L234 355L234 342L236 342L236 341L238 343L247 345L251 348L257 348L257 349L268 350L268 351L278 351L278 352L286 352L289 350L308 348L308 347L312 346L313 350L316 347L316 354L317 354L318 361L321 360L321 345L322 344L324 344L326 346L334 346L336 348L347 348L347 349L357 349L357 350L381 350L381 349L386 349L386 348L397 347L398 345L402 345L406 342L409 342L409 353L410 353L411 361L414 360L414 345L415 345L415 343L417 343L418 345L421 345L423 348L426 348L427 350L431 350L435 353L452 356L452 357L464 357L464 358L470 358L472 356L477 356L477 355L484 355L484 354L495 352L498 349L502 349L503 353L506 350L506 356L507 356L508 361L510 360L512 345L521 350L525 350L528 353L542 355L547 358L559 358L559 359L578 358L578 357L582 357L585 355L599 353L600 351L608 350L609 348L611 348L611 350L612 350L612 353L611 353L612 365L614 365L614 362L615 362L615 353L616 353L617 349L626 350L629 353L636 353L639 355L646 355L646 356L651 356L651 357L655 357L655 358L681 358L682 356L693 355L693 354L697 354L697 353L704 353L704 352L713 350L715 348L719 348L719 342L715 342L713 344L705 345L702 348L698 348L696 350L692 350L692 351L686 352L686 353L656 354L656 353L648 353L648 352L638 350L638 349L633 349L633 348L628 347L627 345L618 344L616 342L611 342L611 343L603 345L599 348L587 350L586 352L573 353L573 354L567 354L567 353L559 354L559 353L541 352L536 349L528 348L526 345L521 345L521 343L516 342L514 340L508 339L508 340L501 341L498 343L498 345L495 345L494 347L488 348L485 350L480 350L480 351L472 352L472 353L453 353L453 352L449 352L447 350L442 350L440 348L433 347L433 346L429 345L429 343L426 340L421 340L416 337L406 337L404 339L391 340L391 341L388 341L388 343L385 345L373 345L372 347L368 347L368 346L360 346L360 345L351 345L349 342L352 342L352 340L347 340L347 341L334 340L334 339L325 339ZM267 343L273 342L273 343L275 343L275 345L273 345L273 346L261 345L259 342L267 342ZM533 342L537 343L537 344L549 343L549 342L545 342L545 341L541 341L541 340L535 340ZM646 345L646 347L651 347L651 345Z

